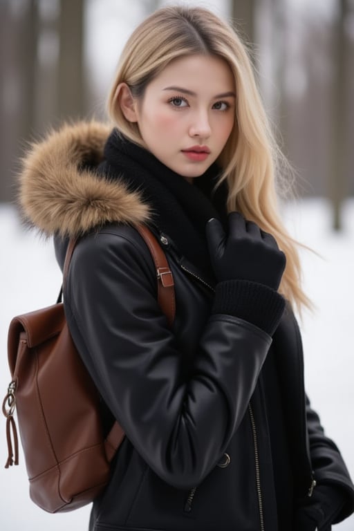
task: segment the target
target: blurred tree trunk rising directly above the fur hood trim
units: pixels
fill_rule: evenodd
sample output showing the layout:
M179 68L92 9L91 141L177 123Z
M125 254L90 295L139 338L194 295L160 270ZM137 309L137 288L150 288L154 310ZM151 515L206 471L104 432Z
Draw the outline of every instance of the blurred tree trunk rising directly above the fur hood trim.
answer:
M86 110L84 84L84 0L61 0L57 115L80 118Z

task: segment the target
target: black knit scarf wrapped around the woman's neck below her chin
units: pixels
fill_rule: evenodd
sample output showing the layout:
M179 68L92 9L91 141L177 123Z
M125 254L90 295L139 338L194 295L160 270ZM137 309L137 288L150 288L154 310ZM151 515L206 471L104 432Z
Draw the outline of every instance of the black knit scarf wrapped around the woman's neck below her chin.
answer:
M212 278L205 225L212 217L225 223L226 187L214 192L220 168L212 165L191 185L152 153L122 138L116 129L106 142L104 159L100 171L110 179L123 180L129 189L138 189L151 205L153 223L183 256Z

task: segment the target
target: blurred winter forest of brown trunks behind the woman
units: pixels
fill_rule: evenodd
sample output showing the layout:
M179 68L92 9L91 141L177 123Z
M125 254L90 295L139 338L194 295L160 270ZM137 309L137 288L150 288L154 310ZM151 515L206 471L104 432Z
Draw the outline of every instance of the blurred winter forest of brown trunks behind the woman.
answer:
M28 140L62 120L105 118L124 40L166 3L0 0L0 203L13 200ZM341 205L354 194L354 0L184 3L226 17L250 43L298 193L328 198L340 229Z

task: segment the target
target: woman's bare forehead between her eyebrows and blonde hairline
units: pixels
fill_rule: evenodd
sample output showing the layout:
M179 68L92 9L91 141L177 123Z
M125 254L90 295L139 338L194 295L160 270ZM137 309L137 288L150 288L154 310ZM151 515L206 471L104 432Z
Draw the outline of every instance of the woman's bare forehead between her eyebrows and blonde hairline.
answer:
M230 66L214 55L190 55L172 60L151 82L151 88L183 86L198 93L234 91Z

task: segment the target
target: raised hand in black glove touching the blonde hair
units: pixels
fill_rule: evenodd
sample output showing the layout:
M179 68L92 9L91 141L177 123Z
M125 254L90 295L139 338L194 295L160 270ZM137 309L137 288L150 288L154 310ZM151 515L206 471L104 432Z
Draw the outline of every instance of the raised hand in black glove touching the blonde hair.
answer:
M239 212L231 212L228 222L228 234L216 218L210 219L206 227L216 279L219 282L248 280L277 290L286 257L273 236L263 232L256 223L246 221Z

